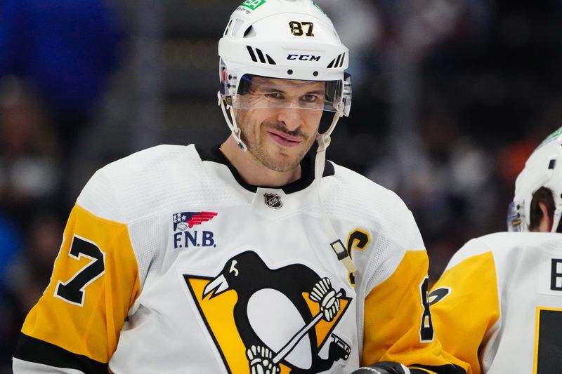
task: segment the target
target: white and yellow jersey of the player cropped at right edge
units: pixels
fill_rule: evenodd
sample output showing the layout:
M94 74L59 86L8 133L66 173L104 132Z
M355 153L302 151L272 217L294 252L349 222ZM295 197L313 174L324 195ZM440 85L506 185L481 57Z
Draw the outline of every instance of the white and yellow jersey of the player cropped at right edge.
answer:
M562 234L473 239L429 300L439 340L469 373L561 373Z

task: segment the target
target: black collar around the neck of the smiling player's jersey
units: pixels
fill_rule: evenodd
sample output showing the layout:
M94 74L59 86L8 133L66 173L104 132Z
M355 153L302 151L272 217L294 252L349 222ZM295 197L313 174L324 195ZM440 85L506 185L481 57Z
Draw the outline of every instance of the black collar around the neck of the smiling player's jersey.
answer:
M223 163L224 165L228 166L228 168L230 169L230 173L233 173L233 176L238 182L238 184L244 187L245 189L247 189L248 191L256 192L258 190L258 187L263 187L263 186L249 185L247 182L244 182L244 180L240 176L240 173L238 173L236 168L232 166L232 164L228 161L228 159L226 159L226 157L224 156L223 152L221 152L219 147L220 145L215 145L213 147L197 147L196 145L195 149L197 149L197 153L201 157L202 161ZM289 183L288 185L279 186L277 188L282 189L283 192L285 192L285 194L291 194L292 192L301 191L302 189L305 189L306 187L310 186L312 182L314 182L315 154L316 154L315 147L313 147L313 149L311 149L311 151L308 152L306 156L304 156L303 161L301 161L301 178L295 180L294 182ZM324 173L322 174L322 177L334 175L335 174L334 165L329 161L326 161L325 165L326 166L324 168ZM272 187L267 187L267 188L272 188Z

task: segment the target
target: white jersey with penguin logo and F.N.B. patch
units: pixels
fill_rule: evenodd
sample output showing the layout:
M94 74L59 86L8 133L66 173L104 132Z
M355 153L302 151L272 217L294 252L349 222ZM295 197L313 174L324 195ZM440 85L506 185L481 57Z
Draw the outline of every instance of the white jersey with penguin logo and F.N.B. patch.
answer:
M382 360L457 373L433 340L410 211L327 163L321 201L358 266L348 274L312 157L282 188L245 184L218 147L163 145L100 169L22 327L15 373L351 373Z

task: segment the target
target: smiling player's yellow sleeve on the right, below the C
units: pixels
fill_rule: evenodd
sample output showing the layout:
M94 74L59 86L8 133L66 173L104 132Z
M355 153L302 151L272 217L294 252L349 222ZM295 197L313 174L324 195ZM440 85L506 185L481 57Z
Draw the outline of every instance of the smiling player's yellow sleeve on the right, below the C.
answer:
M433 333L426 251L407 251L396 271L365 300L362 365L396 361L412 373L465 373Z

